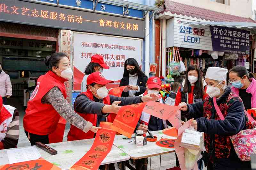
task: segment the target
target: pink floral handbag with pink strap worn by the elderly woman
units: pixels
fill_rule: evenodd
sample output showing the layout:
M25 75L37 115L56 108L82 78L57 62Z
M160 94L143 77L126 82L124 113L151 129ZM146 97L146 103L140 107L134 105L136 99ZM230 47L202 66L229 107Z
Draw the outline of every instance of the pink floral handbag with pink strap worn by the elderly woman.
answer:
M216 97L213 98L213 104L220 119L224 120L225 118L217 105ZM256 121L247 112L246 115L254 128L241 130L236 135L230 136L236 154L242 161L249 161L251 160L251 154L256 154Z

